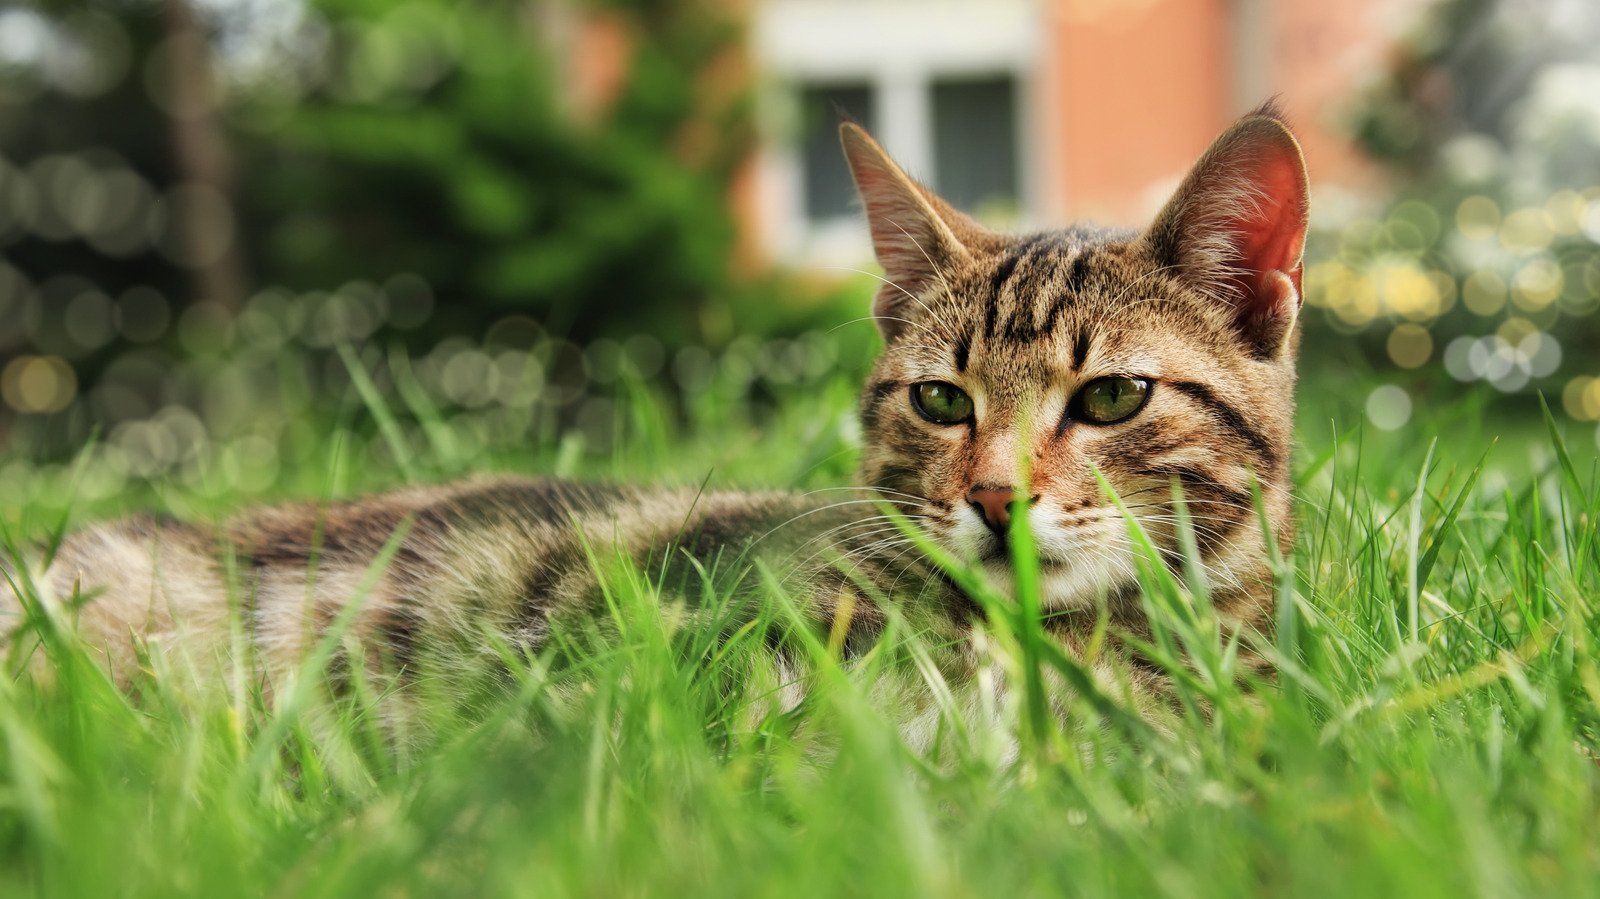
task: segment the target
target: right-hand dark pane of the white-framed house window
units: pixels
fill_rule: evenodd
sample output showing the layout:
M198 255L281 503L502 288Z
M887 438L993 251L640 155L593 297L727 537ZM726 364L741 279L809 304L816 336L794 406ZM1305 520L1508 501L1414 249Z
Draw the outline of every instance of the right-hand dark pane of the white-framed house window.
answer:
M963 210L1016 205L1014 78L933 83L933 165L939 194Z

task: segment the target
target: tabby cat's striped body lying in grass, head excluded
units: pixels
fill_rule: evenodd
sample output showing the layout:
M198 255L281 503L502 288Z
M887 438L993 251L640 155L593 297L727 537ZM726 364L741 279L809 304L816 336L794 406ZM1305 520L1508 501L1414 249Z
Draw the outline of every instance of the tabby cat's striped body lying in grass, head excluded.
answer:
M912 573L918 558L861 552L877 541L851 536L859 504L832 493L480 478L269 507L218 528L101 525L61 547L45 587L88 600L74 611L77 632L104 649L123 683L139 669L130 633L219 673L237 629L267 686L294 673L336 627L368 651L370 678L474 677L501 653L541 651L563 621L603 617L602 581L624 566L659 582L669 601L694 601L707 585L749 595L778 576L811 597L806 613L824 627L840 592L851 590L835 565L842 555L854 561L850 574L869 582L926 585L925 571ZM922 598L957 601L957 593L939 582ZM882 616L858 605L854 590L850 605L858 640L869 638Z

